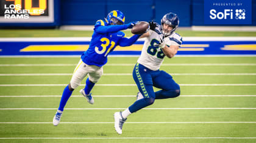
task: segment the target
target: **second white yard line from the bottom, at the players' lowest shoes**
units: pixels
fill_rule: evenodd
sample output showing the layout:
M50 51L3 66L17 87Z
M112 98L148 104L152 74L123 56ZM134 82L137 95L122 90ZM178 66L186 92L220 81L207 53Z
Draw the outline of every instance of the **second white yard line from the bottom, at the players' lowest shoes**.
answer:
M115 122L61 122L61 124L114 124ZM256 124L256 122L126 122L126 124ZM52 124L52 122L0 122L0 124Z

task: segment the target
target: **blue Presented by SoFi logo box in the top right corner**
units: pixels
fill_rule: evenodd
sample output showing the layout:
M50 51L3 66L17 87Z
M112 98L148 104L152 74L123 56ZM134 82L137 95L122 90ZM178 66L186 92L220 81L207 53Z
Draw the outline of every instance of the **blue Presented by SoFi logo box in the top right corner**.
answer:
M251 0L204 0L205 24L251 24Z

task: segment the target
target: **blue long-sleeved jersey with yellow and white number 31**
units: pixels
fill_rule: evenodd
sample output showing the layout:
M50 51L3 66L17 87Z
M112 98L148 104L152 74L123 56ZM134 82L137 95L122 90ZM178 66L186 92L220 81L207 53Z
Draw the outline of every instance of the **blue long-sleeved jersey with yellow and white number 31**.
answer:
M133 40L125 38L125 34L119 31L124 29L127 29L126 24L107 25L107 22L98 20L94 25L90 46L81 56L82 61L88 65L102 67L107 63L107 55L115 49L116 45L131 45L139 38L139 36L135 36Z

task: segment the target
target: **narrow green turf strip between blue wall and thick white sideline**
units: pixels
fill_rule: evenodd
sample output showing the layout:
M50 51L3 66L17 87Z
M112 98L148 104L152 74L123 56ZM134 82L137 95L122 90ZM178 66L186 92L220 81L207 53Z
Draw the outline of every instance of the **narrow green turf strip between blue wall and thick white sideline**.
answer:
M18 37L91 37L93 31L82 30L0 30L0 38L18 38ZM130 30L124 30L127 36L132 36ZM192 30L179 30L183 37L186 36L256 36L256 32L200 32Z

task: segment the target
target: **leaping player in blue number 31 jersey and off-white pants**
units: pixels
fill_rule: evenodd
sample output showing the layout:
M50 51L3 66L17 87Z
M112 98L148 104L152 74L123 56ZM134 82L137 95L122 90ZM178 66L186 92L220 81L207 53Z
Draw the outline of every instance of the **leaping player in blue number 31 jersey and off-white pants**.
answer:
M132 45L141 36L133 35L130 38L126 38L125 34L120 30L132 28L135 22L124 24L124 21L123 13L119 10L113 10L108 13L105 20L98 20L96 22L89 48L82 54L77 67L74 69L71 81L63 91L59 108L53 119L54 125L59 124L66 102L73 90L79 86L82 79L87 75L85 88L81 89L80 93L85 96L90 104L94 103L90 91L103 74L102 66L107 63L108 54L114 50L116 45L122 47Z

